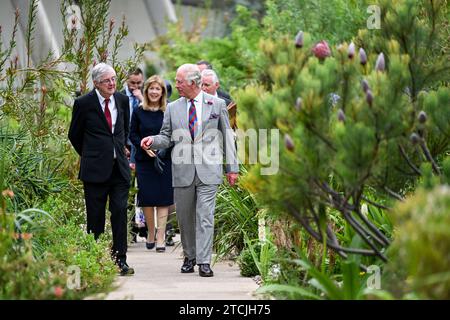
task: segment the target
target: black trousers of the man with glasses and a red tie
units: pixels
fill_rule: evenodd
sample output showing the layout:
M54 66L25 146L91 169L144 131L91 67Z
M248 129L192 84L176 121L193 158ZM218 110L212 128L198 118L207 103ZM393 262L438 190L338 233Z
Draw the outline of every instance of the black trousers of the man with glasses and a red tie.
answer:
M127 203L130 183L119 171L117 163L111 177L104 183L84 182L87 212L87 232L95 239L105 232L105 209L109 199L113 237L112 254L116 260L126 261L127 252Z

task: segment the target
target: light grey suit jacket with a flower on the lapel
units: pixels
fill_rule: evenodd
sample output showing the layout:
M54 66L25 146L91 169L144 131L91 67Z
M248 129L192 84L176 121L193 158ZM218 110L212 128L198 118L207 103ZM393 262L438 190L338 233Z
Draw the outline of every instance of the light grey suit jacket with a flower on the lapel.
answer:
M204 184L223 182L225 171L239 172L233 130L222 99L203 93L201 132L192 141L187 116L187 101L182 97L169 103L161 131L153 136L151 149L172 150L172 183L174 187L192 184L195 171Z

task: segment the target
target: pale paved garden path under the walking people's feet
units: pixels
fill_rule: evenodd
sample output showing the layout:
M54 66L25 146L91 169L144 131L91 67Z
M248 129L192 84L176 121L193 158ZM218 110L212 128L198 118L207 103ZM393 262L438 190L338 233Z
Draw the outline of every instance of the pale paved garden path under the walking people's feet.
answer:
M231 261L213 265L214 277L203 278L195 273L183 274L181 245L176 237L175 247L165 253L145 248L145 239L138 238L128 249L128 264L134 276L117 277L117 289L106 296L108 300L250 300L258 288L251 278L242 277L239 267Z

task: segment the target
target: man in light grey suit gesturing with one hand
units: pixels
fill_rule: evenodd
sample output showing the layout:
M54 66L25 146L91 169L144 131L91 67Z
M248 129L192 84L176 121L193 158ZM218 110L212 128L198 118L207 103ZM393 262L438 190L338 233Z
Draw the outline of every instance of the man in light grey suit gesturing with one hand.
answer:
M182 273L212 277L211 253L214 209L222 183L223 156L230 185L238 178L233 131L225 102L200 89L200 70L195 64L180 66L176 88L181 96L164 113L161 131L141 141L143 149L172 150L172 183L183 245Z

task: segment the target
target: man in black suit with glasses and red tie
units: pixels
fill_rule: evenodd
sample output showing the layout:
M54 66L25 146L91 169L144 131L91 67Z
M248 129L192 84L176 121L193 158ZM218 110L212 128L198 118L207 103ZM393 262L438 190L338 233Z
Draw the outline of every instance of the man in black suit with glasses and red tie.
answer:
M87 231L97 239L105 231L109 198L113 245L111 253L121 275L134 274L126 262L127 202L130 167L126 142L129 132L128 97L116 92L116 72L99 63L92 69L94 90L75 100L69 140L81 157Z

